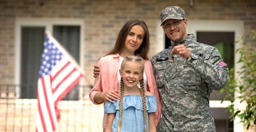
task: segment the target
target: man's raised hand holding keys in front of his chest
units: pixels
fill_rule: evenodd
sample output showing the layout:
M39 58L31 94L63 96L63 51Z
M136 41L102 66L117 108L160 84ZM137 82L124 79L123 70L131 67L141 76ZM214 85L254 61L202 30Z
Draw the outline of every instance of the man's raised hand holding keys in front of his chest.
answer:
M189 51L189 49L187 49L185 45L181 44L174 46L173 49L171 50L171 54L179 55L187 60L191 55L191 52Z

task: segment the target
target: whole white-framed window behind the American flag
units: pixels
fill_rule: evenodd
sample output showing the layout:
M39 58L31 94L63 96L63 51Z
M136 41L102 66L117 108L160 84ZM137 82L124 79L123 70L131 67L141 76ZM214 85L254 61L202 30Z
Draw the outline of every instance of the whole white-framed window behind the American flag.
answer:
M37 80L41 65L41 54L45 40L45 30L48 30L63 45L63 47L80 62L81 27L82 22L17 20L16 72L15 82L20 84L17 94L20 98L36 98ZM20 34L20 35L19 35ZM64 98L66 100L79 99L78 85L72 88Z

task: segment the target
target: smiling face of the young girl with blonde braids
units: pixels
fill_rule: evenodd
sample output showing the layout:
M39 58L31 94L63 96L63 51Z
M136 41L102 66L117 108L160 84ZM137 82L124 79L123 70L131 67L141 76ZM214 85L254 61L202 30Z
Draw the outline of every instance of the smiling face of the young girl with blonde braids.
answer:
M143 77L142 67L139 63L127 62L124 68L120 69L120 75L125 87L137 87L137 83Z

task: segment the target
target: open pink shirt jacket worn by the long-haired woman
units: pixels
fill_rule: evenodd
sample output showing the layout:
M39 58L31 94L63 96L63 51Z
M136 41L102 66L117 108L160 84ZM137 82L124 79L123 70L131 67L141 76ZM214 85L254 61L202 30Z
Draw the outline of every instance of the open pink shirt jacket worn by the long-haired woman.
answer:
M147 76L147 86L153 95L156 96L157 111L155 112L155 123L158 124L161 117L161 103L158 88L156 87L156 80L153 74L153 67L150 60L145 61L145 74ZM111 88L118 90L118 70L119 70L119 54L107 55L100 58L98 61L100 66L100 75L95 79L94 86L90 91L90 99L93 104L98 104L94 101L96 93L109 91ZM106 116L103 117L103 129L106 127Z

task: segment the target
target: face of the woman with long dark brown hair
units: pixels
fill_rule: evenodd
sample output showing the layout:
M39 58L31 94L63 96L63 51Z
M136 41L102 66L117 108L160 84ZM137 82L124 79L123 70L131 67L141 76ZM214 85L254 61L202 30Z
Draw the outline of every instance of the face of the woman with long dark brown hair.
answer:
M124 42L124 49L127 52L135 52L142 45L144 37L144 29L140 25L134 25L130 29L126 41Z

